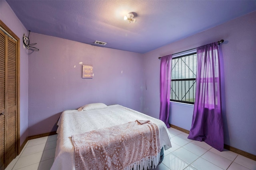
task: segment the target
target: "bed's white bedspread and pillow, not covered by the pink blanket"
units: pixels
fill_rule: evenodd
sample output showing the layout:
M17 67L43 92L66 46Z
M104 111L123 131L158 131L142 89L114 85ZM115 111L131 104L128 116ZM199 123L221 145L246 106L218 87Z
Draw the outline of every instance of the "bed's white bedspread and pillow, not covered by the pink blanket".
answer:
M86 106L88 105L78 110L67 110L61 114L58 121L55 158L51 170L76 170L75 147L72 143L74 136L121 126L136 120L150 120L157 125L160 148L164 147L167 150L171 147L168 129L159 119L120 105L106 106L98 103L90 104L87 108Z

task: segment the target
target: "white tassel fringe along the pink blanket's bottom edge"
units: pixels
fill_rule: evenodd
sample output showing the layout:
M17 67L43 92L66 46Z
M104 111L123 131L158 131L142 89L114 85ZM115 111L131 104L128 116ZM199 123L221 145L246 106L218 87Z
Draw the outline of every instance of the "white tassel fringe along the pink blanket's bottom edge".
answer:
M143 158L142 160L138 162L134 162L133 164L130 164L124 170L143 170L143 169L149 169L149 168L156 168L158 163L160 162L160 152L156 156L150 156L148 158Z

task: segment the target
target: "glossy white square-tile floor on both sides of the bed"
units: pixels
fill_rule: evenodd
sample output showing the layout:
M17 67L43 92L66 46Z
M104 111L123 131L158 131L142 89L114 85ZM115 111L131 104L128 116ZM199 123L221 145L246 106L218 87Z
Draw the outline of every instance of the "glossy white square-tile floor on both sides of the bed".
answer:
M172 148L154 170L256 170L256 161L208 144L188 139L188 134L168 129ZM29 140L5 170L50 170L54 161L57 135ZM152 169L152 170L153 170Z

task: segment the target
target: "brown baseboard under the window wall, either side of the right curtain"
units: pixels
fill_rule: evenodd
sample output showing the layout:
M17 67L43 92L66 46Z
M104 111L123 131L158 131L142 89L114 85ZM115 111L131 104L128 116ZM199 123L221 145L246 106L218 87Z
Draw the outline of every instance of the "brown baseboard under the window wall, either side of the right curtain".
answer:
M183 129L183 128L181 128L181 127L178 127L178 126L175 126L175 125L171 125L171 124L170 124L170 127L174 128L174 129L177 129L177 130L179 130L179 131L182 131L182 132L184 132L184 133L189 134L189 131L188 131L188 130ZM248 152L245 152L245 151L243 151L243 150L240 150L240 149L231 147L231 146L226 145L226 144L224 144L224 149L230 150L230 151L232 151L232 152L235 152L235 153L237 153L237 154L240 154L240 155L242 155L242 156L245 156L245 157L247 157L247 158L250 158L250 159L256 161L256 155L254 155L254 154L250 154L250 153L248 153Z

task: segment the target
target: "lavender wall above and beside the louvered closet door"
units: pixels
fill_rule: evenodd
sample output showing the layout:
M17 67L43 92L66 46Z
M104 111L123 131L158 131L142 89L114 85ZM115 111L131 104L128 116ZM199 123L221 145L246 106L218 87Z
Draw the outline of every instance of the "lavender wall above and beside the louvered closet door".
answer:
M0 20L20 38L20 145L28 137L28 55L22 37L26 28L5 0L0 0Z

